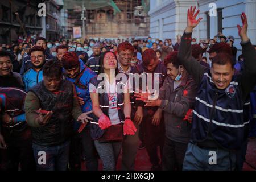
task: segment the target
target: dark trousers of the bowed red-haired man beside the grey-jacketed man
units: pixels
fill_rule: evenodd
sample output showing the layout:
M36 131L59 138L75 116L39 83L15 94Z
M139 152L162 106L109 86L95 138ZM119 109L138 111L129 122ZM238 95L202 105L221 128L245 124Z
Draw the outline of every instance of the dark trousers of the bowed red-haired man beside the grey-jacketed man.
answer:
M160 164L162 159L163 144L164 144L164 119L162 117L158 126L152 125L152 117L146 115L142 121L142 134L144 138L144 145L146 147L148 156L152 166ZM158 156L158 146L160 146L160 158Z

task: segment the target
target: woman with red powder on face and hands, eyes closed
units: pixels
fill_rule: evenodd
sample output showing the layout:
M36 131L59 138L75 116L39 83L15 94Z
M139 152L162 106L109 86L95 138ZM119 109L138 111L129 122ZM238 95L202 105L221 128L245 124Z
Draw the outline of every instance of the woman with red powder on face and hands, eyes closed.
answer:
M94 114L91 135L106 171L115 170L123 135L134 135L137 131L130 118L131 104L127 81L123 80L127 76L119 73L123 77L118 80L117 73L117 57L113 52L104 52L100 59L100 74L92 78L89 85ZM125 86L122 92L118 92L121 85Z

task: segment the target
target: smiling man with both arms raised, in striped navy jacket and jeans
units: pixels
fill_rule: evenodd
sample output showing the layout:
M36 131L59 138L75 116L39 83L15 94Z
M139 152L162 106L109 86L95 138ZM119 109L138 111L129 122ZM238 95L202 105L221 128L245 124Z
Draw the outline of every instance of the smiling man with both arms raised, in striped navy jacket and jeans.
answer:
M187 27L181 38L179 61L192 75L199 90L193 111L191 141L185 154L184 170L234 170L236 152L245 140L249 122L243 118L243 105L256 83L256 55L246 35L247 19L242 13L243 26L238 27L245 71L234 76L232 56L216 53L212 68L205 69L191 55L191 36L199 10L188 9Z

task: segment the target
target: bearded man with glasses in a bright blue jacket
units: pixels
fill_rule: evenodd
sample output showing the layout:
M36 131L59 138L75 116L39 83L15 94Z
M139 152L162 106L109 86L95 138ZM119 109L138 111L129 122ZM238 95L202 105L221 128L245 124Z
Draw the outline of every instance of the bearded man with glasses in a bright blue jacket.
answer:
M45 51L41 46L34 46L30 49L32 67L23 75L26 92L43 80L42 67L46 61L45 57Z

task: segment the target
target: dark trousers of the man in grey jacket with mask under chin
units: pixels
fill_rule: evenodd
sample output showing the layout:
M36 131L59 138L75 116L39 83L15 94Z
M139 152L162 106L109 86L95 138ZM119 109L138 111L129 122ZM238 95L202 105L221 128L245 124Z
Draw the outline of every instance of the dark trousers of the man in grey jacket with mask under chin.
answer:
M174 142L167 137L164 139L163 147L163 170L173 171L175 169L181 171L185 152L187 151L187 143Z

